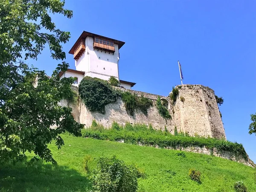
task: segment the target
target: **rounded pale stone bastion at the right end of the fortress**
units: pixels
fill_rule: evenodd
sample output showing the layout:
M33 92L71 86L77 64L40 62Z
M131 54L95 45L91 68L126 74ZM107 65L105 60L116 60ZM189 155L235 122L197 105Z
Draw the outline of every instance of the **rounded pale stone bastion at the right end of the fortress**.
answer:
M202 85L185 84L176 88L179 90L174 104L177 130L188 132L190 136L226 139L214 91Z

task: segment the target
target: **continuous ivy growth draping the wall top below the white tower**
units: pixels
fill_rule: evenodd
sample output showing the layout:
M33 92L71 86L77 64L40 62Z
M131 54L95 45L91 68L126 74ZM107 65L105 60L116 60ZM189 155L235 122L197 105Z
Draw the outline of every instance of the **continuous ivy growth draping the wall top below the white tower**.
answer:
M115 80L117 81L117 79ZM108 82L88 76L84 77L79 84L79 95L90 111L98 111L103 114L105 113L105 106L111 102L116 102L119 96L125 104L127 113L130 115L134 115L136 110L140 110L147 115L148 108L153 105L153 102L143 95L138 97L130 92L122 92L119 89L115 90L111 86L111 81Z

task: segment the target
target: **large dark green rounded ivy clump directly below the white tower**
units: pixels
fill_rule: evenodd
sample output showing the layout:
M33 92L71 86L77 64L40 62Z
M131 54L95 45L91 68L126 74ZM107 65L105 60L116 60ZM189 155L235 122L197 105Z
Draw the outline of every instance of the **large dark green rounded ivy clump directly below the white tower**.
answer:
M108 81L98 78L84 77L79 84L79 95L90 111L105 113L105 106L116 102L117 93Z

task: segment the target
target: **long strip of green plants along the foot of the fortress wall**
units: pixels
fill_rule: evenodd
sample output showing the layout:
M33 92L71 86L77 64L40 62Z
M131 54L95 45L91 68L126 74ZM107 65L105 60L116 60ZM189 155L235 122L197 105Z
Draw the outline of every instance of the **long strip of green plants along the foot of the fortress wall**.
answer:
M215 138L205 137L184 137L178 134L177 136L171 133L166 133L159 130L148 129L146 125L129 123L125 124L125 128L119 131L114 129L84 129L82 130L83 137L89 137L98 140L120 141L125 143L138 143L148 146L158 145L160 148L172 147L206 147L209 150L216 148L220 152L229 151L236 157L242 157L247 160L247 154L242 144L232 143L227 140L218 140Z

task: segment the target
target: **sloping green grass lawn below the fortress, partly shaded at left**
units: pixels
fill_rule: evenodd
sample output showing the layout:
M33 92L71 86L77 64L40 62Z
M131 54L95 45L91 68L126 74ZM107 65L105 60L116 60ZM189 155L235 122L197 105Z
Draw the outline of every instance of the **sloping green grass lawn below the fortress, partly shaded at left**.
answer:
M138 180L140 192L234 192L233 184L240 180L249 192L256 191L255 169L231 160L189 152L182 157L175 150L61 136L65 145L60 150L54 143L49 145L58 166L42 161L33 166L1 166L0 191L89 191L89 175L82 169L87 154L93 157L91 169L102 156L116 155L126 163L136 164L147 174L146 179ZM190 180L191 168L201 172L201 184Z

